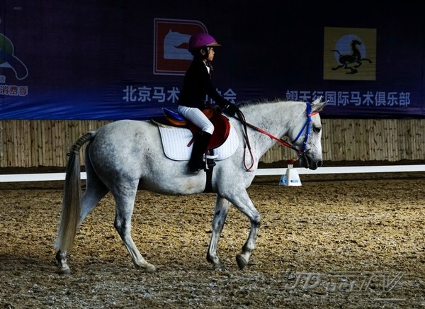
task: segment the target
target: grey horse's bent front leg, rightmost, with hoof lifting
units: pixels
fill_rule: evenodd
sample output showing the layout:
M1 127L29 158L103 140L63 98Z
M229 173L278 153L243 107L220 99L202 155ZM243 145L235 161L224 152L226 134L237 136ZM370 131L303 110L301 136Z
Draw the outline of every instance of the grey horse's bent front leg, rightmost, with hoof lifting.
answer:
M246 190L244 190L241 195L233 197L232 203L249 218L251 223L248 239L242 247L241 252L236 256L239 269L243 269L246 264L248 264L251 252L254 251L257 232L261 224L261 216L258 210L256 210L254 203L252 203L251 198L249 198Z

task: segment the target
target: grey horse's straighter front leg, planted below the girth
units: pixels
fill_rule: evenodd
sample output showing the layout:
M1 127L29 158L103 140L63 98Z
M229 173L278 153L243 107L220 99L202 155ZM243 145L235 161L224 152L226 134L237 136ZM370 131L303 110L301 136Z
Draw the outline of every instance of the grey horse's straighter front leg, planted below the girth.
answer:
M225 270L225 264L222 264L217 254L218 240L220 239L220 233L225 225L227 213L232 204L225 198L222 198L217 194L215 198L215 209L214 218L212 219L212 233L210 239L210 245L207 252L207 261L212 264L212 269Z

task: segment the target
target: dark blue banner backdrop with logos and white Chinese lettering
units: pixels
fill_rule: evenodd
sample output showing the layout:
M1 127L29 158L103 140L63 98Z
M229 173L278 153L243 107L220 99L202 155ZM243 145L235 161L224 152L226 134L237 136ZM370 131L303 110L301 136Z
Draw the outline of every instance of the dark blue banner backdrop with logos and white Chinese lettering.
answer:
M0 0L0 119L176 110L197 32L222 44L212 79L231 101L324 96L322 118L424 118L419 2L293 2Z

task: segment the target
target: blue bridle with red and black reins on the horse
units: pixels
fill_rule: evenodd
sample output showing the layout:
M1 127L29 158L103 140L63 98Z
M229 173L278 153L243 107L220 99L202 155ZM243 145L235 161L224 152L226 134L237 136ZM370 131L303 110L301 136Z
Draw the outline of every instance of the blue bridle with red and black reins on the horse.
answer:
M237 120L239 120L242 125L244 126L244 139L246 142L246 147L244 147L244 167L246 169L246 171L250 171L254 165L254 155L252 154L251 151L251 145L249 144L249 137L248 137L248 131L247 131L247 127L252 128L256 131L259 131L259 133L263 133L265 135L267 135L268 137L270 137L273 140L276 140L278 142L280 142L280 144L282 144L285 147L288 147L292 150L295 150L295 152L297 152L297 154L300 155L300 157L305 157L307 164L308 164L308 159L307 159L307 152L310 151L310 149L307 150L307 140L308 137L310 135L311 132L311 127L312 127L312 116L316 115L317 113L319 113L319 111L314 111L312 112L312 104L310 102L306 102L305 103L307 108L306 108L306 112L307 112L307 120L305 121L305 124L302 126L302 129L300 130L300 133L298 133L297 137L295 137L295 139L289 143L285 140L282 140L279 137L276 137L274 135L271 135L270 133L266 132L265 130L256 127L255 125L251 125L251 123L247 123L245 120L245 116L244 113L242 113L242 111L239 110L239 108L237 109ZM293 144L295 142L297 142L297 140L300 138L300 136L302 135L302 133L305 132L305 137L304 137L304 142L302 142L302 146L301 149L298 149L297 147L295 147ZM246 149L249 150L249 154L251 156L251 166L250 167L246 167Z

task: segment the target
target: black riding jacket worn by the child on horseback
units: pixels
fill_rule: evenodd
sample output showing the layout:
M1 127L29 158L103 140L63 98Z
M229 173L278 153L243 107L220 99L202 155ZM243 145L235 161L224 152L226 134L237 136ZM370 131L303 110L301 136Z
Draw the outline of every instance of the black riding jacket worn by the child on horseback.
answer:
M200 58L193 59L183 79L183 88L178 104L188 107L205 108L205 97L209 96L220 108L230 102L223 98L212 85L211 76Z

